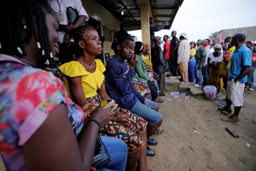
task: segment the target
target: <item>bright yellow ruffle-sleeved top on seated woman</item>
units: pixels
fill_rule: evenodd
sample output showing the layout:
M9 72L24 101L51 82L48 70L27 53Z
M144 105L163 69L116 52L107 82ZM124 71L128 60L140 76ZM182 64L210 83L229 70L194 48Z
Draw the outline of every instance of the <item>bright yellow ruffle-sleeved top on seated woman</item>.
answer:
M104 71L106 70L105 66L101 60L95 60L96 69L93 73L89 73L85 68L77 61L72 61L69 63L64 63L59 66L59 70L64 74L63 84L67 90L69 98L71 98L69 91L69 84L67 82L66 76L70 78L81 76L82 78L82 87L83 93L85 93L85 98L93 97L97 94L97 90L100 89L101 84L103 83L105 76Z

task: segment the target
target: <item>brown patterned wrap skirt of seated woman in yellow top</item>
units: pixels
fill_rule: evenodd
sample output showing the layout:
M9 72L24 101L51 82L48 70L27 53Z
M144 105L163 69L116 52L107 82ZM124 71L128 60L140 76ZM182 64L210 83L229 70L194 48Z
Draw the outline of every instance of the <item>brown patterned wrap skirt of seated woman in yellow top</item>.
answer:
M87 102L91 103L100 104L101 101L101 97L98 94L95 95L95 97L87 98ZM142 138L140 138L140 135L145 131L148 122L142 117L131 113L127 109L119 107L117 107L117 109L120 112L127 114L134 121L134 124L131 124L130 127L126 127L117 122L110 121L108 125L100 129L99 134L108 137L120 138L126 143L128 153L134 153L145 145Z

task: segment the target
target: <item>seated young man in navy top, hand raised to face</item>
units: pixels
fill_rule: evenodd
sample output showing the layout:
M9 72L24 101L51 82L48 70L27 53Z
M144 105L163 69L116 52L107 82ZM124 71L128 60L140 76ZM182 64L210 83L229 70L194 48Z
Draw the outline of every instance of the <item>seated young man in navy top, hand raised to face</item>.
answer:
M106 87L111 98L122 108L126 108L148 122L147 137L153 135L160 127L163 116L158 113L159 106L154 101L140 95L132 84L132 78L138 60L134 54L135 42L132 38L122 37L118 41L117 54L106 65ZM156 140L148 138L148 144ZM155 152L147 146L147 155L155 156Z

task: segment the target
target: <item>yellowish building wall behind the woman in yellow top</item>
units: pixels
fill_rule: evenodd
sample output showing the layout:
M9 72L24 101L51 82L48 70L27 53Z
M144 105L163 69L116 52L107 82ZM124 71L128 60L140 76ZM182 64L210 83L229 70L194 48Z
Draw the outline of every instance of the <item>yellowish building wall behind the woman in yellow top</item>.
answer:
M101 23L101 34L103 34L102 26L106 26L113 30L119 30L120 21L114 17L108 10L106 10L103 6L98 4L93 0L82 0L83 7L87 11L89 17L94 18L98 22ZM113 50L111 49L112 42L105 41L104 43L104 53L109 53L109 55L114 55Z

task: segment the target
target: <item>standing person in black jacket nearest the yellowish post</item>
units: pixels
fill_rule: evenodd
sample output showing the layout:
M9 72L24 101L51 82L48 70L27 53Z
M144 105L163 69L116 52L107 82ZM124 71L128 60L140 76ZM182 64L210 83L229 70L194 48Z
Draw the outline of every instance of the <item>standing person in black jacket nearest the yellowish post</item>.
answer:
M153 70L158 73L160 80L159 84L159 96L166 96L164 93L165 89L165 73L168 71L168 63L164 58L164 52L160 47L161 37L156 36L154 39L155 46L151 49L151 60L153 63Z

